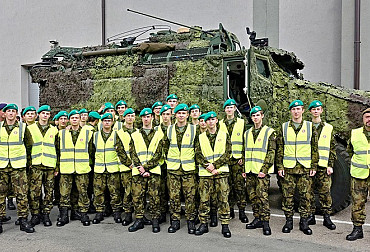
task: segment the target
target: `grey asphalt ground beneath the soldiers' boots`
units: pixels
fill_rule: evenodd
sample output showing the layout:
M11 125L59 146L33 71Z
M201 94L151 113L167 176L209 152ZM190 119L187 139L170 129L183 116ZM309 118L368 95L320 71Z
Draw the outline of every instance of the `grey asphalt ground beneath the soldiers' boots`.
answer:
M275 179L272 179L271 184L271 236L264 236L261 229L245 229L245 224L237 217L230 223L230 239L222 236L221 225L210 228L210 232L202 236L189 235L184 219L181 221L181 229L175 234L167 233L168 221L161 224L161 232L157 234L151 232L151 226L129 233L127 227L114 223L113 217L88 227L82 226L79 221L56 227L58 210L54 208L51 214L53 226L38 225L33 234L19 231L19 226L14 225L16 211L7 211L12 220L3 224L0 251L370 251L369 224L364 225L364 239L354 242L345 240L352 230L350 207L332 216L337 225L334 231L324 227L322 216L317 216L317 224L311 226L313 234L304 235L299 231L299 216L296 213L292 232L282 233L285 217L280 209L281 195ZM370 204L366 207L369 215ZM250 205L247 212L251 221ZM91 214L90 218L93 217Z

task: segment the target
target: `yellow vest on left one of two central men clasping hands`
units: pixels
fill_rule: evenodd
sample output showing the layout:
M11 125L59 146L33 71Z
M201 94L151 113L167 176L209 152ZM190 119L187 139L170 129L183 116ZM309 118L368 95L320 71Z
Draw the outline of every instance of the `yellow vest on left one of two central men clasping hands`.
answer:
M131 135L132 140L134 141L134 146L136 150L136 154L140 160L141 165L145 165L149 160L151 160L158 148L159 142L162 140L163 135L160 134L159 131L155 131L152 140L150 141L149 147L146 147L145 141L143 136L141 135L140 131L135 131ZM156 167L149 170L150 173L161 175L161 167L157 165ZM134 167L132 169L132 175L136 176L139 175L139 170Z

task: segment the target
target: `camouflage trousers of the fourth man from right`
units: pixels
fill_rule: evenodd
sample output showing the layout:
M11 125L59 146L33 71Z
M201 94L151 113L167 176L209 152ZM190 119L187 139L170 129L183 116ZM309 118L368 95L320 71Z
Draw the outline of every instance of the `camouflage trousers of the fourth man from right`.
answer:
M252 202L253 216L261 221L270 220L269 188L270 175L258 178L257 174L248 173L246 178L249 200Z

